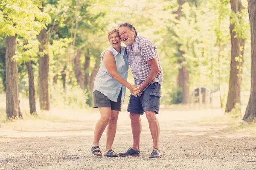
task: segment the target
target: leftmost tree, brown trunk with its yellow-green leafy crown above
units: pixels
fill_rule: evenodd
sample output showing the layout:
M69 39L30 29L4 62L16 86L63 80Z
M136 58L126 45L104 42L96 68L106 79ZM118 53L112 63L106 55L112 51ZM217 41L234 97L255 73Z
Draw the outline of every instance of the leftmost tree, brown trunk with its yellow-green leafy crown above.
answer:
M37 34L49 15L41 13L38 1L2 0L0 4L0 36L6 36L6 113L9 118L22 117L18 100L18 68L16 37Z

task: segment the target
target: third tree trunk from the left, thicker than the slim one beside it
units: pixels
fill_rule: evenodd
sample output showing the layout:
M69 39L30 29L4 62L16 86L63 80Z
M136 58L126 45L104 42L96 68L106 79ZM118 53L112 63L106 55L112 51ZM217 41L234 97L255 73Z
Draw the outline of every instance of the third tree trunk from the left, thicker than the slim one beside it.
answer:
M46 29L43 28L38 35L39 52L47 50L47 33ZM42 110L49 111L49 92L48 92L48 74L49 74L49 55L44 53L43 57L39 56L39 75L38 75L38 93L40 108Z

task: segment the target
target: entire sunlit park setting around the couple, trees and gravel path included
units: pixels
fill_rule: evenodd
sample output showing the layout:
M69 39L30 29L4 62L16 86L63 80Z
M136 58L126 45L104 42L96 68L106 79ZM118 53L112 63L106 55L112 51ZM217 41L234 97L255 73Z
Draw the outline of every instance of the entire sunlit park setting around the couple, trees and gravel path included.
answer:
M254 0L0 0L0 169L253 169L255 9ZM164 76L163 159L129 158L128 167L89 150L100 54L124 22L157 45ZM131 146L128 99L127 91L117 151Z

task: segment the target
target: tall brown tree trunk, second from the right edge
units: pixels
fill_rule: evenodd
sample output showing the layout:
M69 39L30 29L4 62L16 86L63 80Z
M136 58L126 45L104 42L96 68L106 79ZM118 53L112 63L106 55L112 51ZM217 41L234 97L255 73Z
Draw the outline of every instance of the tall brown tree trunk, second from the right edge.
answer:
M241 4L241 0L230 0L231 9L233 12L240 12L244 7ZM230 20L232 18L230 17ZM242 62L236 61L235 57L243 55L243 51L240 51L241 45L245 44L245 39L240 39L239 37L234 37L236 32L233 31L235 24L230 22L230 35L231 35L231 64L230 64L230 81L229 81L229 91L227 96L227 105L225 112L230 112L236 105L236 103L241 103L240 93L241 93L241 67L243 66L243 56ZM244 49L244 48L243 48ZM239 65L239 69L237 66Z

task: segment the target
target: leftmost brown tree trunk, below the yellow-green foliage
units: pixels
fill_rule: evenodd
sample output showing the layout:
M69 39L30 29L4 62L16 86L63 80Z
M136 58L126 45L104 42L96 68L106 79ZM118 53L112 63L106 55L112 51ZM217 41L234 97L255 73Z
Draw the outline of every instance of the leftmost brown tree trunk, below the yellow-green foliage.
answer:
M16 36L6 37L6 113L8 118L22 118L19 102L18 65L12 57L16 51Z

